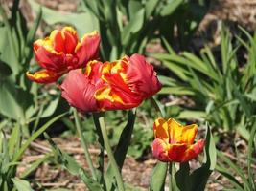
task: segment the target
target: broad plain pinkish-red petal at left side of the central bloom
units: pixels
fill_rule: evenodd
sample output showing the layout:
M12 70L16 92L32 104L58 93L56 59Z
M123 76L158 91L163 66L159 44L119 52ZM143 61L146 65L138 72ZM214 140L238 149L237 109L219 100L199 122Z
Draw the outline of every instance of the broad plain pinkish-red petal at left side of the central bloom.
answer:
M80 69L70 71L60 88L62 89L61 96L81 112L98 110L96 99L94 98L97 87L90 83L88 77L82 74Z

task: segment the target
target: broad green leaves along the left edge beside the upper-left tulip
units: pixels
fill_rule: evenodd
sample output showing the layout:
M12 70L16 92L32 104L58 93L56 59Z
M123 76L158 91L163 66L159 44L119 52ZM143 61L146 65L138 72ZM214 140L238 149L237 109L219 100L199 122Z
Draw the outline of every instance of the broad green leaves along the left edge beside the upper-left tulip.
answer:
M35 132L40 118L54 115L59 100L59 95L54 99L53 96L38 95L38 86L25 75L33 57L33 42L42 11L38 10L33 25L28 28L18 9L19 0L13 1L10 18L2 6L0 35L6 37L0 39L0 119L8 121L10 125L6 126L10 128L18 122L22 132L29 137L29 127L33 126L32 132Z

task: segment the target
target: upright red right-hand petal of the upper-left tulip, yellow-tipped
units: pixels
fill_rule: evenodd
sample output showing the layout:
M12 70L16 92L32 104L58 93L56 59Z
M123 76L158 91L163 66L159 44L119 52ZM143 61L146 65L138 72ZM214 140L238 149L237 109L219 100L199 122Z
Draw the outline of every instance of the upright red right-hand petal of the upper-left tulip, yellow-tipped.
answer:
M98 32L85 34L81 38L81 43L75 49L75 53L79 57L79 66L85 66L89 60L98 58L100 42L101 37Z

